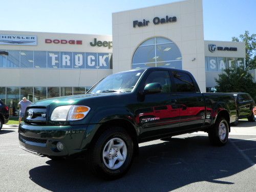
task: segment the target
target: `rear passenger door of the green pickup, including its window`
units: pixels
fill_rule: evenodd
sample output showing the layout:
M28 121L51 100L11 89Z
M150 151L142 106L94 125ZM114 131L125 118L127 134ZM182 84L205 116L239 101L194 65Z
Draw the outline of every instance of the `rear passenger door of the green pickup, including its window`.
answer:
M172 78L178 96L180 131L201 127L205 119L205 102L190 74L173 71Z

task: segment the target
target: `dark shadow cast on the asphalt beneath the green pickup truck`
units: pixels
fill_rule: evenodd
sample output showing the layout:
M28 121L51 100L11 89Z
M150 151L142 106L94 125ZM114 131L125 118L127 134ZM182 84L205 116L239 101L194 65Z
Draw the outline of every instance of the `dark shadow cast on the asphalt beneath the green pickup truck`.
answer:
M256 141L246 143L256 145ZM29 174L33 182L51 191L170 191L200 181L232 185L222 178L251 166L231 142L214 147L206 136L173 138L170 142L142 146L130 171L114 181L91 175L84 159L47 163L31 169ZM190 189L194 190L197 189Z

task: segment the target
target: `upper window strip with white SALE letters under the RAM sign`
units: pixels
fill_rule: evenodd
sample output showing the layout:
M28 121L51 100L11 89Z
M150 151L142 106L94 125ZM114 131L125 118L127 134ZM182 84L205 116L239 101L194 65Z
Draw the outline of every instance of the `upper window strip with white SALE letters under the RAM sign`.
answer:
M234 57L205 57L205 71L221 72L227 68L245 67L244 58Z

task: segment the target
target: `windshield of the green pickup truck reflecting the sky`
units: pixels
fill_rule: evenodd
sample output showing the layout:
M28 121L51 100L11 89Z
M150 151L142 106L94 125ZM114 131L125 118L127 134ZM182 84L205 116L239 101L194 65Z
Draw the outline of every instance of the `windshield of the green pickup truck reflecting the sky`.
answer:
M144 70L127 71L112 74L88 93L131 92Z

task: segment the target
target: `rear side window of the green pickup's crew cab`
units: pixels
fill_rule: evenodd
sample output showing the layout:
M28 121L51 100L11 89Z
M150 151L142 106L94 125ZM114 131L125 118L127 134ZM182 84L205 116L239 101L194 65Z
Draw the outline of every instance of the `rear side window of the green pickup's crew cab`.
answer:
M195 84L190 76L182 72L173 72L177 92L195 92Z

